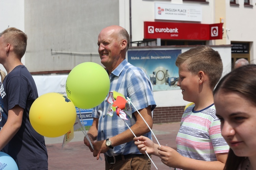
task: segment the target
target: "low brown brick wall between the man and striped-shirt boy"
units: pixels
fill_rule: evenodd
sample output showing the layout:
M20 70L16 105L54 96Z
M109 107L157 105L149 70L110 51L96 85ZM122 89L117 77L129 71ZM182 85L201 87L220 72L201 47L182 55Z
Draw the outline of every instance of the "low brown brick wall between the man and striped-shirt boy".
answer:
M185 106L156 107L153 113L153 123L180 122Z

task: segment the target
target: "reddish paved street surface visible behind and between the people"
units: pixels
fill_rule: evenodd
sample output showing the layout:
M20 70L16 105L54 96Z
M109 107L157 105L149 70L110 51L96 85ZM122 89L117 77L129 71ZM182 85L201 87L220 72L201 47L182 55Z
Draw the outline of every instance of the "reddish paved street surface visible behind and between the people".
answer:
M180 122L153 124L154 132L160 145L176 148L176 135L180 128ZM48 169L49 170L104 170L104 155L100 154L103 160L97 160L84 145L84 134L82 131L74 132L74 139L62 147L63 136L57 138L45 137L45 144L48 151ZM156 140L152 135L155 143ZM152 160L159 170L170 170L169 167L161 162L157 156L152 156ZM156 169L151 164L151 169ZM173 168L172 168L173 169Z

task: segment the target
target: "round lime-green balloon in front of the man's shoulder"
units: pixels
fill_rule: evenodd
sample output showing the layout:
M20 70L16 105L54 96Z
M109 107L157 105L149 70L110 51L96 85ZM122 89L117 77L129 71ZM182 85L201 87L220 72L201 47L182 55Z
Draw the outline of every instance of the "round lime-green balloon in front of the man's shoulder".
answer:
M109 93L110 79L106 70L97 63L85 62L75 66L66 81L68 98L78 108L98 106Z

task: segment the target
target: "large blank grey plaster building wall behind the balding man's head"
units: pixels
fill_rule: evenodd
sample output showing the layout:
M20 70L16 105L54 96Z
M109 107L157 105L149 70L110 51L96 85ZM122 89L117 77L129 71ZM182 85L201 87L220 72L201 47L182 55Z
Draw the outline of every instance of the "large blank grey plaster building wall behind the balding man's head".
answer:
M98 34L113 24L119 25L118 0L25 0L26 67L38 72L101 65Z

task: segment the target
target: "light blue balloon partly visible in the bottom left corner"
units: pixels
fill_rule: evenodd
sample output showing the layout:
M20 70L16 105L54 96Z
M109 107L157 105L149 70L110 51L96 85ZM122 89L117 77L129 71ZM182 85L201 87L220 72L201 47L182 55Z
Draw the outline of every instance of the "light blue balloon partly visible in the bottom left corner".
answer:
M0 152L0 170L18 170L18 166L10 155Z

